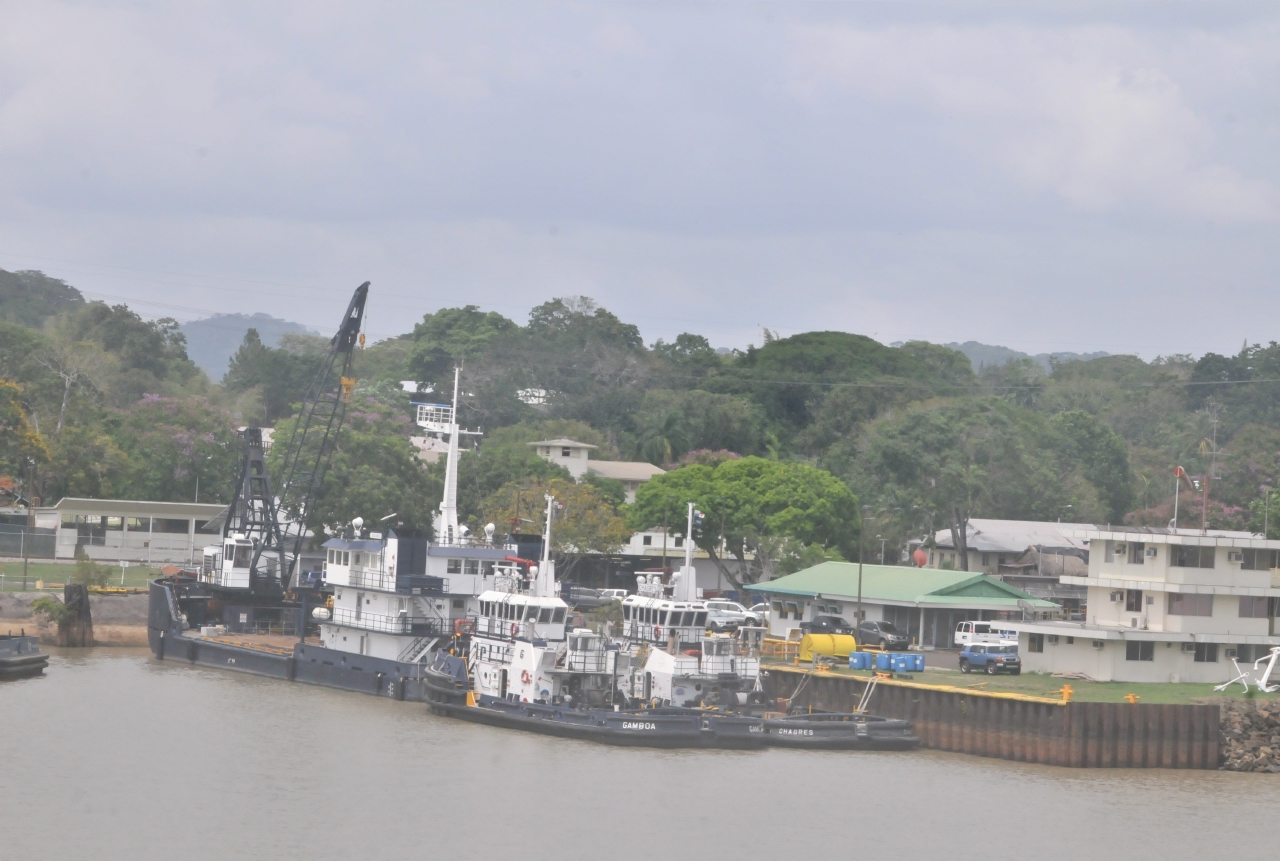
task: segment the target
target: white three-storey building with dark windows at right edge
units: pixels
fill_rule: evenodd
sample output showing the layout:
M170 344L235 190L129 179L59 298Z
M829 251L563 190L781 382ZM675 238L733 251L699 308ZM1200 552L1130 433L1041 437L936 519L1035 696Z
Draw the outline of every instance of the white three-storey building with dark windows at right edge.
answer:
M1280 541L1248 532L1091 527L1083 622L1009 622L1023 668L1115 682L1225 682L1280 646Z

